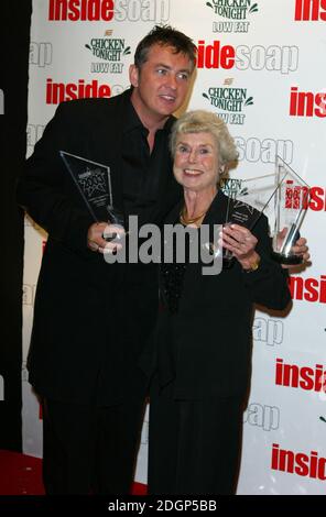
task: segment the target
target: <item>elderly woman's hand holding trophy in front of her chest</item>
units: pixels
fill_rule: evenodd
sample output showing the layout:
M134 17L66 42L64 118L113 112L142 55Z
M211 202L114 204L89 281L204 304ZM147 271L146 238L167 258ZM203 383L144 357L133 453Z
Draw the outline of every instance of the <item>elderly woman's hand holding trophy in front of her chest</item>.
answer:
M256 252L258 240L244 227L240 224L227 224L221 232L220 245L232 252L243 270L250 270L259 255Z

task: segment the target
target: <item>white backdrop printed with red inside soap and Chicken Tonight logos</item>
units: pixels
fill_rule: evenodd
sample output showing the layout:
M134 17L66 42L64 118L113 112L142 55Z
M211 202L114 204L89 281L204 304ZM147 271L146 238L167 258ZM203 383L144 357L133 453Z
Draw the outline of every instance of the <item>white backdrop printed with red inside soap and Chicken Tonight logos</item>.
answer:
M238 494L325 494L326 2L34 0L28 153L61 101L128 88L139 40L161 23L185 32L198 47L187 108L211 110L228 123L240 155L231 177L272 173L279 155L311 187L302 234L312 262L292 273L292 310L257 311L253 321ZM26 218L24 360L45 242ZM41 457L42 415L25 363L22 375L24 452ZM148 414L137 468L142 483L146 448Z

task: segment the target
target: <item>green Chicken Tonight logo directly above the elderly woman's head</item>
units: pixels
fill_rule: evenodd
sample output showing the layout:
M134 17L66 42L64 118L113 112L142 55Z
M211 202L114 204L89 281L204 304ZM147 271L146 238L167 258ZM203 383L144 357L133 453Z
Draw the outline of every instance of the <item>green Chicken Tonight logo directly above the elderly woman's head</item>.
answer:
M247 88L233 88L233 79L226 79L224 87L211 86L203 97L207 99L213 108L217 108L218 117L227 124L243 125L246 114L242 112L253 105L253 97L248 95Z

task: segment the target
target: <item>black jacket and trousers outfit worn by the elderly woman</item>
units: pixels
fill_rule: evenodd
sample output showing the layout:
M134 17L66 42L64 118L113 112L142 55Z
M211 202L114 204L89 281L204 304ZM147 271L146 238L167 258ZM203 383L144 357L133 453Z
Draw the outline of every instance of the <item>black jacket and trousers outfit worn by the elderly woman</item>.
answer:
M222 223L227 205L218 191L203 224ZM166 223L178 221L180 210ZM254 304L282 310L290 301L287 274L270 257L264 216L251 231L257 271L244 272L236 260L218 275L203 275L200 262L161 266L162 307L154 344L142 358L152 376L151 494L235 491Z

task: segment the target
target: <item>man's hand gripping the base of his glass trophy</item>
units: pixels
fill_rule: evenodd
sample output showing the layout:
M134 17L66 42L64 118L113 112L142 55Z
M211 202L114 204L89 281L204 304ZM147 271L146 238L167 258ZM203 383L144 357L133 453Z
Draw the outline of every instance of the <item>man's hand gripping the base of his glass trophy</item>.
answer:
M119 240L124 234L124 229L118 224L95 222L87 232L87 246L98 253L117 253L122 248Z

